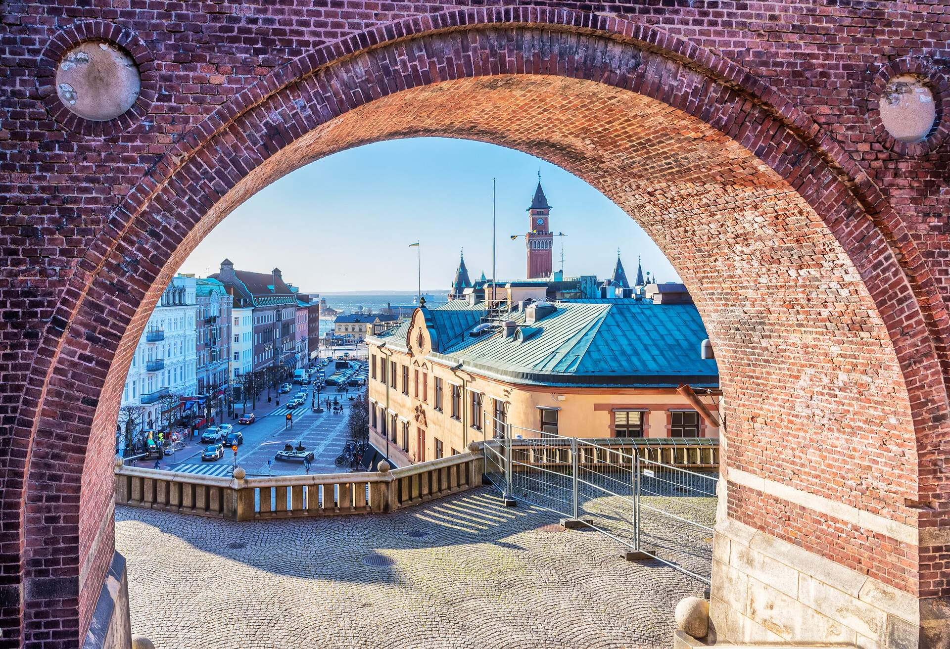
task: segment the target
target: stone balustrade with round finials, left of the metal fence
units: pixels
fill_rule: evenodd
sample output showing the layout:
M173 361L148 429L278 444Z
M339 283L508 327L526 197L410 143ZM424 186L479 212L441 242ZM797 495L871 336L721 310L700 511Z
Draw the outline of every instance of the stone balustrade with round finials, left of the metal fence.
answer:
M116 505L232 521L383 513L482 485L483 456L471 450L391 469L314 475L231 478L124 466L116 458Z

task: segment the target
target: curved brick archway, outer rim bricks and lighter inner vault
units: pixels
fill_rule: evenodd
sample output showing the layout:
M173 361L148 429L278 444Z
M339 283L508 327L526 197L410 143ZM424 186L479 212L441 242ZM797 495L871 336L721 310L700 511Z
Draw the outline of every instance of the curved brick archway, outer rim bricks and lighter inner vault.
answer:
M221 106L128 191L69 278L21 410L25 621L56 607L85 628L111 554L111 420L180 260L289 171L416 135L556 162L660 243L729 368L732 519L903 592L947 594L921 583L924 548L908 561L917 544L879 530L933 525L916 505L944 494L919 465L947 408L942 305L873 183L740 67L658 29L524 8L412 18L317 48ZM826 517L809 521L747 476L882 522L827 534Z

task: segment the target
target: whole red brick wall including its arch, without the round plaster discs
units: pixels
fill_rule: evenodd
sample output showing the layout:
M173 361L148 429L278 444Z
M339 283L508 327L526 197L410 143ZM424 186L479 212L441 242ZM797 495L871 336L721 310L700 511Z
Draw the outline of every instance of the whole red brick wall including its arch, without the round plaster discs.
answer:
M942 79L942 7L298 4L5 7L0 646L74 646L85 629L111 546L125 370L180 261L259 187L394 137L500 143L591 182L696 297L723 371L731 466L938 525L950 153L880 138L868 98L885 65ZM142 97L89 124L58 105L50 75L97 37L135 57ZM867 539L780 516L788 506L755 492L730 505L842 561ZM940 548L880 547L861 555L869 574L950 595L928 555Z

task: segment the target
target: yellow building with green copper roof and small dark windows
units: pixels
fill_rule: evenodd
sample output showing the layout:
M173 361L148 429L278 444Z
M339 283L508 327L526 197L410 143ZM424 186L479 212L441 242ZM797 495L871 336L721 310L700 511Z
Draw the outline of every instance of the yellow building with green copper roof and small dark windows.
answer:
M484 307L463 300L416 309L408 323L367 338L373 445L388 447L395 464L404 466L504 436L507 426L512 436L523 437L717 437L719 430L677 391L681 383L691 385L709 410L717 410L718 373L714 360L699 359L705 330L695 308L633 302L555 303L541 319L529 308L488 324L482 322ZM633 346L649 336L621 340L626 349L615 350L614 361L599 359L599 338L616 344L624 323L637 317L644 320L641 326L656 325L654 309L664 316L672 309L690 312L689 331L675 346L654 343L666 348L670 372L657 373L663 360L654 358L652 373L623 373L630 366L618 360L636 360ZM610 345L604 349L609 353ZM694 362L677 365L684 349L694 352ZM657 355L651 354L656 349L641 352ZM595 357L585 365L591 353ZM610 371L598 371L608 366Z

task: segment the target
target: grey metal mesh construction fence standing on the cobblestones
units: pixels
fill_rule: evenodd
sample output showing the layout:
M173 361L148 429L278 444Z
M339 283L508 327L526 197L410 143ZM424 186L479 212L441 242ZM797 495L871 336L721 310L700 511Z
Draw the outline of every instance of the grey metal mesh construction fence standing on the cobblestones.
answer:
M710 582L718 440L578 439L500 424L507 434L485 441L485 474L506 497Z

